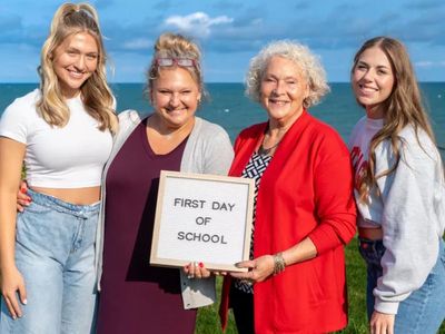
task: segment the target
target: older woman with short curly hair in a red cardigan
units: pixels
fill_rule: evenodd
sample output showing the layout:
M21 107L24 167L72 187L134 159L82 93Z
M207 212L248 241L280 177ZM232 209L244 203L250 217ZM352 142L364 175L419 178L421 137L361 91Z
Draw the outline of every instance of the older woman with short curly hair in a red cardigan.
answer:
M307 108L329 90L308 48L277 41L250 62L247 95L268 121L240 132L230 175L256 180L247 273L225 277L220 315L239 333L326 333L347 325L344 245L356 210L348 150Z

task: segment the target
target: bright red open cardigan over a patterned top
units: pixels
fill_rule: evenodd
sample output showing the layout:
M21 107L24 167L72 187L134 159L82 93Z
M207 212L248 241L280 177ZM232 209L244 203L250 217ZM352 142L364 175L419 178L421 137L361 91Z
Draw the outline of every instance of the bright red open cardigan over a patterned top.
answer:
M241 131L229 174L240 176L267 124ZM356 230L349 153L338 134L307 111L283 138L257 197L255 257L283 252L305 237L317 256L254 286L255 332L326 333L347 325L344 245ZM230 278L219 310L227 325Z

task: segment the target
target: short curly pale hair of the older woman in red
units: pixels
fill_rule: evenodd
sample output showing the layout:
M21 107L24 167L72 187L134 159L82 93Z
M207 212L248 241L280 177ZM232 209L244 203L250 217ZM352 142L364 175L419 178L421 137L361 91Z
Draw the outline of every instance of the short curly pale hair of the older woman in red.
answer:
M261 80L270 59L275 56L294 61L304 72L309 86L309 96L303 101L305 108L317 105L329 92L326 72L316 55L308 47L291 40L278 40L263 48L250 60L246 75L246 96L260 102Z

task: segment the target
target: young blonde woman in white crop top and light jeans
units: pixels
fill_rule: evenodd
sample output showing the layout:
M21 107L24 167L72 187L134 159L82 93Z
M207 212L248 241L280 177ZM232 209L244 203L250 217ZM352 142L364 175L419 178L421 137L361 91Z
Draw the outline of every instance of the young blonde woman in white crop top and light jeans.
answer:
M1 333L89 333L101 171L118 120L96 10L65 3L42 47L40 89L0 121ZM24 160L32 203L16 213Z

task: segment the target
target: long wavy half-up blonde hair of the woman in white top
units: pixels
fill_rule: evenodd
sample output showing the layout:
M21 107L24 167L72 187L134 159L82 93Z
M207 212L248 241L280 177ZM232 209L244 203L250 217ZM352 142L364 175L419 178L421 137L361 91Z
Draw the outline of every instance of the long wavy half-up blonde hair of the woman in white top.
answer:
M52 126L67 125L70 114L53 69L55 50L70 36L87 32L97 42L99 55L97 69L80 88L87 112L99 122L99 129L116 132L118 119L113 110L115 99L106 78L106 52L96 9L88 3L63 3L56 11L47 40L41 49L41 99L37 108L41 117Z

